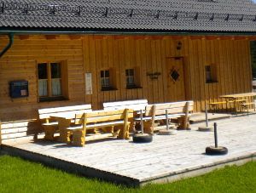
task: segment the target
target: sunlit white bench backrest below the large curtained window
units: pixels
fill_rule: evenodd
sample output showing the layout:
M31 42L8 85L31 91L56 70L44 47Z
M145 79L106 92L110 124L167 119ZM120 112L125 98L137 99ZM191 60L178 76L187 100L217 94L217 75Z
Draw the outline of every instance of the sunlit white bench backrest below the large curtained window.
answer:
M49 119L49 116L55 113L67 113L73 111L73 113L82 113L84 111L91 111L91 105L72 105L72 106L60 106L54 108L38 109L39 119Z

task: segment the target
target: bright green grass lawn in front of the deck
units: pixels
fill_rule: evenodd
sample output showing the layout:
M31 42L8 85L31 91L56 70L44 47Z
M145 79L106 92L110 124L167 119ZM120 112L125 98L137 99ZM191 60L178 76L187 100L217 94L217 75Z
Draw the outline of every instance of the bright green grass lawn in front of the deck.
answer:
M256 162L241 167L226 166L203 176L183 179L170 184L147 184L143 188L84 178L19 157L0 156L0 193L23 192L255 192Z

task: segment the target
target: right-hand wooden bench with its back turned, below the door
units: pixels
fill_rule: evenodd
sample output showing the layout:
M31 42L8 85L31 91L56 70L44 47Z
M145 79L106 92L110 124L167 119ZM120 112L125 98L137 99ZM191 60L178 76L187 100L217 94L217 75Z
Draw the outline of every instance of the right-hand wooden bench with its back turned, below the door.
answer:
M147 105L142 117L144 132L154 133L158 127L165 128L155 124L155 121L165 122L166 110L169 119L177 119L178 129L189 129L189 112L193 111L193 105L192 100ZM141 118L136 117L134 121L140 122Z

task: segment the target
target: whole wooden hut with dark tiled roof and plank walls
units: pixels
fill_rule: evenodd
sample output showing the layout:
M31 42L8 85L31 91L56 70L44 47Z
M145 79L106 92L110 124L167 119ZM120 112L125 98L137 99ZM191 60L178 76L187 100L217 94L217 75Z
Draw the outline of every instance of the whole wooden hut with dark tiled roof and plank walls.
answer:
M252 92L251 0L14 0L0 6L2 140L37 133L41 108L191 99L200 112L221 94Z

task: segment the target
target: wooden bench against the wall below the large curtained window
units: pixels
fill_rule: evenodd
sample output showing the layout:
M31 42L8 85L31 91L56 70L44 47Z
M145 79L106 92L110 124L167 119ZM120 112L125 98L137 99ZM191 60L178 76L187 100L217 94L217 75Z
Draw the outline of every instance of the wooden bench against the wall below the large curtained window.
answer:
M50 116L55 116L57 113L83 113L84 111L91 111L91 105L72 105L60 106L54 108L38 109L39 119L44 127L44 139L55 139L55 133L58 133L58 122L52 121Z

